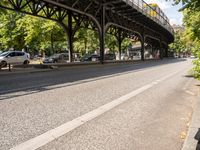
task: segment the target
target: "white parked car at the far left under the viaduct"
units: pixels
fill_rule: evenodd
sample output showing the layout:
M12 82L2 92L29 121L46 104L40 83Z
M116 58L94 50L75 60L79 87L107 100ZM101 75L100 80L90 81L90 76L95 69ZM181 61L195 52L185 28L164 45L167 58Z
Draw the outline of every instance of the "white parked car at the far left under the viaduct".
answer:
M22 51L7 51L0 54L0 67L8 64L29 64L30 55Z

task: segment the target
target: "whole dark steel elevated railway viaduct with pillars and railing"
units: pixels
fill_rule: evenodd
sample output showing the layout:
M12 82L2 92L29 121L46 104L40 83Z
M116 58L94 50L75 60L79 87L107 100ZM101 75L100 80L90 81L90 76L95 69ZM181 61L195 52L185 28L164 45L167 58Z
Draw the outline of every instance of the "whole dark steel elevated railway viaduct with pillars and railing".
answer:
M174 31L166 15L154 10L142 0L0 0L0 8L56 21L63 27L69 46L69 59L73 61L74 35L80 28L89 28L99 34L100 61L104 62L105 34L118 41L119 58L124 38L159 49L160 58L168 55L168 44L174 41Z

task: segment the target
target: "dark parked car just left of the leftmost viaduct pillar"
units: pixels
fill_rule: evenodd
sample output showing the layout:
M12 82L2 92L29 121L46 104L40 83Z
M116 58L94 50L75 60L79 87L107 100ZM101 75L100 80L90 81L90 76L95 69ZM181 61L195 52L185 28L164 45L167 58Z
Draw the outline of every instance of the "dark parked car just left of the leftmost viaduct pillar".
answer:
M64 63L69 60L68 53L58 53L44 59L43 63Z

